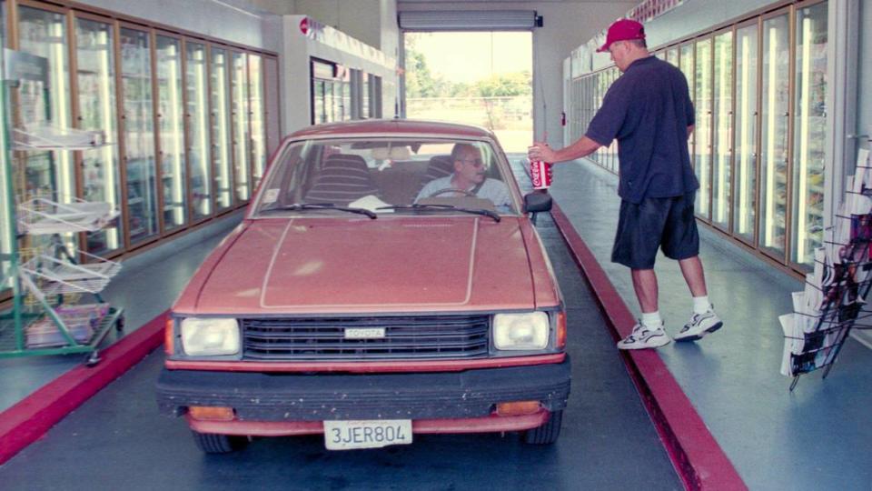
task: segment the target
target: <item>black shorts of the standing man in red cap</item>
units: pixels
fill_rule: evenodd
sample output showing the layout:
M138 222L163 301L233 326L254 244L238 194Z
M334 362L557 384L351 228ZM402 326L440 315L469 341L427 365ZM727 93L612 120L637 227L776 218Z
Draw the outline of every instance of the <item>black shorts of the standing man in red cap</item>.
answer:
M694 195L645 198L639 205L621 201L611 261L630 269L652 269L658 247L671 259L698 256Z

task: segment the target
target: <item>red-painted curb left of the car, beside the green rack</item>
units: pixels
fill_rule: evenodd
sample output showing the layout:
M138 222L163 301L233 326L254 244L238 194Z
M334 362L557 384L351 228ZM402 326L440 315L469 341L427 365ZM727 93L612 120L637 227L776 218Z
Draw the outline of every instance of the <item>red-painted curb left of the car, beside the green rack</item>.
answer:
M76 366L0 413L0 465L163 343L166 312L100 351L94 367Z

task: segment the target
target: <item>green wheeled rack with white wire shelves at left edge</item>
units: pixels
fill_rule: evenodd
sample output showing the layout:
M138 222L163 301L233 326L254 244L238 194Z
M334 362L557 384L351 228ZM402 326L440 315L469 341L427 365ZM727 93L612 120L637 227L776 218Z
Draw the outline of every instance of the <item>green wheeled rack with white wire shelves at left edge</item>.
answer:
M98 346L114 326L124 327L123 310L106 304L100 291L108 285L121 265L64 245L64 238L95 232L110 225L119 215L107 203L81 199L38 196L15 204L12 155L16 151L53 151L48 162L54 168L54 151L68 152L106 145L102 132L57 128L50 123L24 128L12 126L9 89L30 80L44 87L45 119L50 120L50 98L46 87L45 58L5 50L7 72L0 84L0 188L5 224L8 224L9 253L0 255L0 287L12 290L12 309L0 314L0 358L85 354L89 366L99 362ZM16 70L21 61L29 70ZM36 68L42 67L41 70ZM10 80L18 77L19 79ZM53 171L54 172L54 171ZM62 202L68 201L68 202ZM19 240L25 235L50 235L48 245L38 248L23 261ZM45 242L45 241L42 241ZM82 262L80 262L82 261ZM94 304L72 304L74 297L93 296ZM26 305L25 298L33 299Z

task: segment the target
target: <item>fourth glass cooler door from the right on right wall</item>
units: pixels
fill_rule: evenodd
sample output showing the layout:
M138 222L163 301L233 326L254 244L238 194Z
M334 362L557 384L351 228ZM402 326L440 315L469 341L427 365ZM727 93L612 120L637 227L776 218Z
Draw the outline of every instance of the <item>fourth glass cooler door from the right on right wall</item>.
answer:
M714 37L711 223L729 230L733 164L733 32Z

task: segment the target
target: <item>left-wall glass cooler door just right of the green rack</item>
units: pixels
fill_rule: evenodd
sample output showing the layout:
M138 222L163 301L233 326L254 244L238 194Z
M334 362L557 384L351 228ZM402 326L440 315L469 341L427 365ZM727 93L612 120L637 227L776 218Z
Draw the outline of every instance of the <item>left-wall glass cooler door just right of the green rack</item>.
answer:
M127 232L134 244L158 233L150 36L122 27L120 48Z

